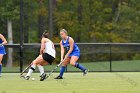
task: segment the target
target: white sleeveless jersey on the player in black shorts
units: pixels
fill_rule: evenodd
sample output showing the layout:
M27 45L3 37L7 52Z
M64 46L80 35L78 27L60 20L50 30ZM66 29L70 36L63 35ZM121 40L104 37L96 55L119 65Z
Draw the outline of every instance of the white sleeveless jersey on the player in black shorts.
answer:
M45 50L44 53L48 53L49 55L53 56L55 58L55 47L53 42L49 41L45 43Z

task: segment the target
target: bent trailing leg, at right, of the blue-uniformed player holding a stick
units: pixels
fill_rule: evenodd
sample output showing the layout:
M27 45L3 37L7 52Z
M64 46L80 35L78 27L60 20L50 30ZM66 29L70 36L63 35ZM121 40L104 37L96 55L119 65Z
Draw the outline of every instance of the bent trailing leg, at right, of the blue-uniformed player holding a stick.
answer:
M76 68L79 68L80 70L82 70L83 71L83 75L86 75L87 74L87 69L77 62L78 59L79 59L78 56L72 56L71 59L70 59L70 64L72 66L75 66Z

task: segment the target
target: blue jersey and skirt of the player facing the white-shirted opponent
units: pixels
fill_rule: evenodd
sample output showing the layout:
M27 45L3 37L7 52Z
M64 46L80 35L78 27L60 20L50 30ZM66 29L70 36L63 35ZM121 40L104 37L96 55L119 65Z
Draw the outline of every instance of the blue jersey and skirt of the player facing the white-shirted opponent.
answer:
M69 36L66 39L66 41L62 40L62 45L65 48L66 52L68 52L69 49L70 49ZM69 57L71 57L71 56L78 56L78 57L80 56L80 49L79 49L79 47L77 46L76 43L73 44L73 50L70 53Z

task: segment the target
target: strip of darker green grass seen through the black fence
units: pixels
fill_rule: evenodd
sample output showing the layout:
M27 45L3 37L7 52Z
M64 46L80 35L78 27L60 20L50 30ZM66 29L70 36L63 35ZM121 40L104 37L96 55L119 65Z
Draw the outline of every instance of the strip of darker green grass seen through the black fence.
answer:
M84 62L80 63L90 71L110 71L110 62ZM112 61L112 71L140 71L140 60ZM25 68L26 66L24 66ZM56 64L45 66L45 71L50 71ZM57 69L59 71L60 69ZM68 71L80 71L79 69L68 65ZM19 72L19 67L3 67L3 72Z

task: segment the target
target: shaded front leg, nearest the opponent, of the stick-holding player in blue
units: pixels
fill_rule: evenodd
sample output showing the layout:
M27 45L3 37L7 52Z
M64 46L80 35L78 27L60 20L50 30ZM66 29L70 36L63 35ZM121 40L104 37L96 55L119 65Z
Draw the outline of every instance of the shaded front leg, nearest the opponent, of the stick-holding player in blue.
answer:
M63 79L63 74L65 72L67 64L70 62L70 57L66 58L60 67L60 74L54 79Z

